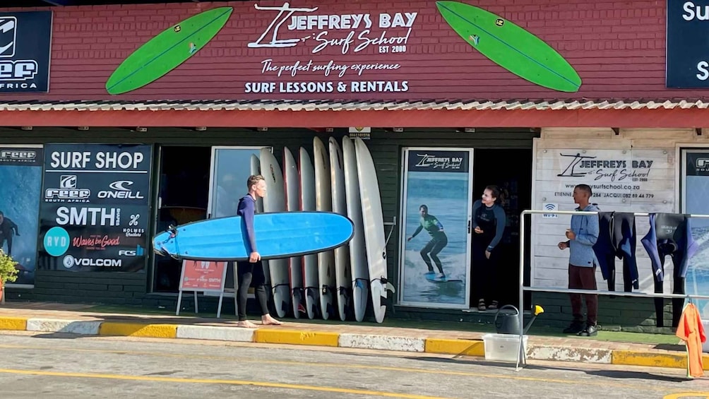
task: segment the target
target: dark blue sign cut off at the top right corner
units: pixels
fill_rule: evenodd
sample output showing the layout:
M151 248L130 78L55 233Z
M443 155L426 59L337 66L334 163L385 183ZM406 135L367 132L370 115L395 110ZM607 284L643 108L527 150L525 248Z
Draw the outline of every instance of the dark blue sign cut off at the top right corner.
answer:
M708 36L708 0L667 0L667 87L709 87Z

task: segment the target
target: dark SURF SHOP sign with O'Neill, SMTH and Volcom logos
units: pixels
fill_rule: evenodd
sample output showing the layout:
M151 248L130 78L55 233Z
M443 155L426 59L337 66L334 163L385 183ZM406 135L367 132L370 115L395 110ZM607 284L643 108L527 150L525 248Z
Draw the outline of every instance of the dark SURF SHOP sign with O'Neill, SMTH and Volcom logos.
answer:
M150 145L45 146L40 269L145 269L151 154Z

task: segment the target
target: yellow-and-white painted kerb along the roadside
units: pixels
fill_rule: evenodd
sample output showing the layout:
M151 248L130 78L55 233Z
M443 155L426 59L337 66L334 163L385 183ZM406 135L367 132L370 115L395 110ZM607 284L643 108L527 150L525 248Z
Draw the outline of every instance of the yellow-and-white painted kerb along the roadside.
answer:
M268 344L314 345L405 352L485 356L483 332L423 330L362 324L286 322L246 329L235 321L209 317L91 312L92 305L6 303L0 330L69 332L79 335L213 339ZM679 339L678 339L679 342ZM629 366L686 368L683 345L606 342L529 335L527 359ZM709 355L704 355L709 370Z

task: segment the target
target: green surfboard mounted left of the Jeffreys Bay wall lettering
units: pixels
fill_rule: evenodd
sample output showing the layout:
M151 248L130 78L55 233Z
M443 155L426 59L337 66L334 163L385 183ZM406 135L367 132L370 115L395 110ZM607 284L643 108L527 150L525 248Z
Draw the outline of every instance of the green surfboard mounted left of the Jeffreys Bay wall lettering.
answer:
M232 11L231 7L211 9L163 30L118 65L106 82L106 91L126 93L172 71L209 43Z

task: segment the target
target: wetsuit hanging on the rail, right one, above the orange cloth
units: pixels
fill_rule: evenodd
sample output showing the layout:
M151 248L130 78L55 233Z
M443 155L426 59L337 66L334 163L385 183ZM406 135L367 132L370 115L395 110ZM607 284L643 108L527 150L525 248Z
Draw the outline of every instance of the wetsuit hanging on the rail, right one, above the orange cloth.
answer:
M684 279L687 275L689 259L697 252L699 245L692 237L692 228L687 215L676 213L650 213L650 231L642 237L652 263L655 293L662 293L664 281L664 260L667 255L674 264L674 287L672 293L684 294ZM683 298L672 298L672 327L679 325ZM655 298L657 327L664 327L664 298Z

